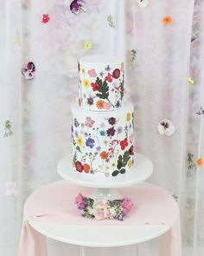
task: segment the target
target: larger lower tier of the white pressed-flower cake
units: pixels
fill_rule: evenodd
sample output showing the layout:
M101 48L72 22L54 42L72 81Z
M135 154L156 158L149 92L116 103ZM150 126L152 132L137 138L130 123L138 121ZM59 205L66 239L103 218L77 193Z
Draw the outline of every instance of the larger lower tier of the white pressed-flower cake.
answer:
M72 107L73 168L86 174L118 176L134 163L134 108L114 111Z

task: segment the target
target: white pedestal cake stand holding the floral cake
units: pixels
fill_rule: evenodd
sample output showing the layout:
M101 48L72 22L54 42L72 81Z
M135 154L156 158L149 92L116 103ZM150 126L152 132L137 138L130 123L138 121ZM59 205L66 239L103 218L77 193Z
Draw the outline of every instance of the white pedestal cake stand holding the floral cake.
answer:
M68 155L63 158L57 167L57 172L64 180L70 181L83 187L95 187L90 197L105 199L121 199L117 187L130 187L147 180L153 173L153 164L149 158L143 154L135 155L135 166L131 172L119 174L116 177L105 177L104 174L94 175L78 173L73 170L72 156Z

